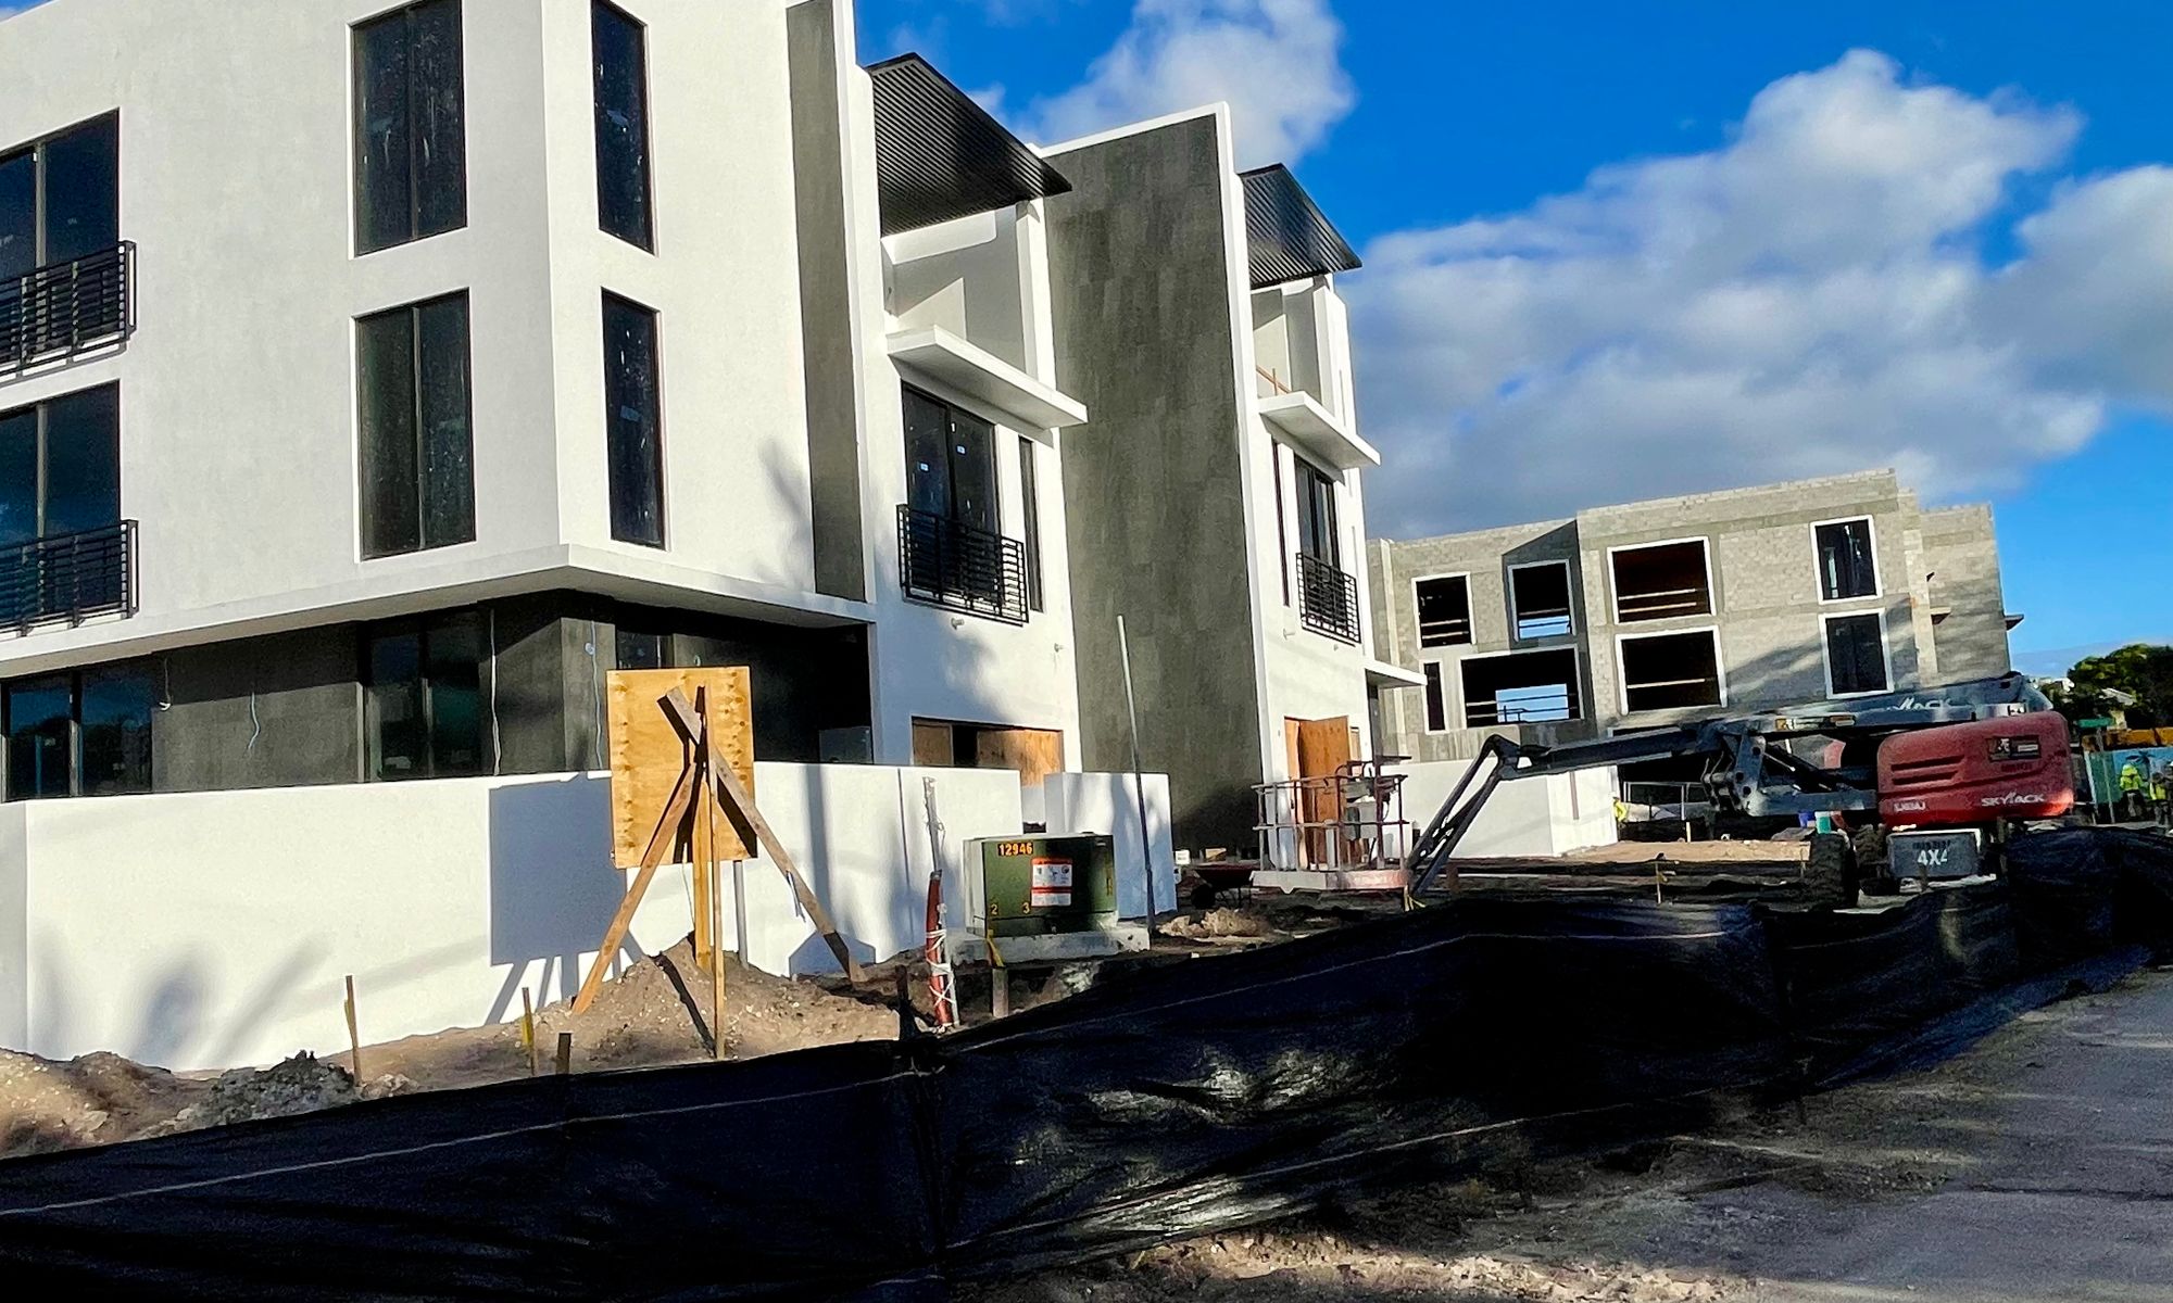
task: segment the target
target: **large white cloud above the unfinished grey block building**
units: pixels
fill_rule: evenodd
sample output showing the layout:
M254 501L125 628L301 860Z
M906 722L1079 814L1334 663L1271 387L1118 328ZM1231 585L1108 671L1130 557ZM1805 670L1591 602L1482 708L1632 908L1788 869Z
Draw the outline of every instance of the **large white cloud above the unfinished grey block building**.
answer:
M1425 534L1895 465L2014 484L2173 408L2173 172L2067 180L2080 119L1873 52L1760 91L1723 148L1523 213L1389 235L1349 282L1369 526Z

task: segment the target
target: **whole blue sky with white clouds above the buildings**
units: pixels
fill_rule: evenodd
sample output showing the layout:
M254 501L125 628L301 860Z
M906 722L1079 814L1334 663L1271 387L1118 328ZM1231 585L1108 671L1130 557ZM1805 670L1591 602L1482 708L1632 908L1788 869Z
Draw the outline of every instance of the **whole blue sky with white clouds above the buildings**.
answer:
M861 0L1034 139L1230 100L1367 256L1373 526L1895 465L2173 641L2173 4Z

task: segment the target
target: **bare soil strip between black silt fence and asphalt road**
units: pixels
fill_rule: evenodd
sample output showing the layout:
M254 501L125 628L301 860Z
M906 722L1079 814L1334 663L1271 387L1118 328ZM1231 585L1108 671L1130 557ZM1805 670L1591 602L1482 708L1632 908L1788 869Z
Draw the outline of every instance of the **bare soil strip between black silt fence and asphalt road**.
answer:
M967 1290L960 1303L1793 1303L1808 1294L1775 1288L1773 1277L1801 1279L1801 1260L1819 1253L1804 1242L1847 1244L1882 1210L1908 1214L1949 1184L1967 1186L1990 1166L2012 1121L2027 1116L2032 1077L2077 1029L2088 1034L2108 1005L2169 990L2173 977L2140 975L2101 997L2049 1005L1936 1068L1814 1095L1801 1116L1754 1112L1593 1162L1404 1188L1299 1223ZM1843 1288L1834 1296L1914 1290Z

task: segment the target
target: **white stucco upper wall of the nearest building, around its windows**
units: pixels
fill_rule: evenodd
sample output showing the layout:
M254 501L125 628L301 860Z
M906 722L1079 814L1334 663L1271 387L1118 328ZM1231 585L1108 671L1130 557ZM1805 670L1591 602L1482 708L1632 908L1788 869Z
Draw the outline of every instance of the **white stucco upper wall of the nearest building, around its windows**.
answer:
M0 638L28 673L324 619L591 586L763 615L811 595L784 17L650 24L656 254L598 230L589 4L472 2L463 230L354 254L352 33L387 0L50 0L0 39L0 150L120 109L137 334L0 410L120 380L135 619ZM476 541L363 560L352 321L469 293ZM602 291L661 311L667 549L611 541Z

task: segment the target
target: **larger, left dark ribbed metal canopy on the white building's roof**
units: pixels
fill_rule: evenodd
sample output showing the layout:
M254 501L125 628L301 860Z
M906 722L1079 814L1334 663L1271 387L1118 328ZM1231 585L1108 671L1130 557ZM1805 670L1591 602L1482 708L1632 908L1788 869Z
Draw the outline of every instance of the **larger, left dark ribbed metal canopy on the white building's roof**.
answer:
M867 69L876 80L882 235L995 213L1071 182L919 54Z

